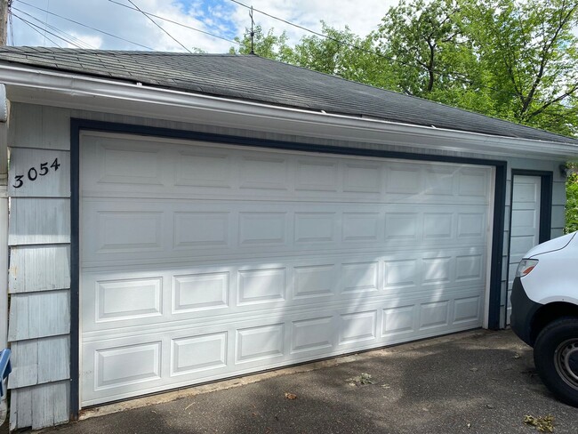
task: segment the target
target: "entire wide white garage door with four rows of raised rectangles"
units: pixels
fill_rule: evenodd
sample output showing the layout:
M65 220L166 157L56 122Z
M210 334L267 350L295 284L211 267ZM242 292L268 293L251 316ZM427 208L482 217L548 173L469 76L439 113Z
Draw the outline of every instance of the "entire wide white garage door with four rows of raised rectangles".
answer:
M83 133L90 406L482 325L492 169Z

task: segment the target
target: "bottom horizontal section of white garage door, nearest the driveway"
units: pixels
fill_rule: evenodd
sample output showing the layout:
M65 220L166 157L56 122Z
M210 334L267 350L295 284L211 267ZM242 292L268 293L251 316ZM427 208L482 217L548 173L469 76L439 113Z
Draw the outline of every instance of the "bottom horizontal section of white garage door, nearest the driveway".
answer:
M84 405L224 378L232 371L251 372L403 342L408 336L419 339L439 334L440 329L448 333L463 325L478 326L480 299L479 293L448 293L391 306L379 302L296 312L277 321L239 319L104 341L89 339L83 351Z

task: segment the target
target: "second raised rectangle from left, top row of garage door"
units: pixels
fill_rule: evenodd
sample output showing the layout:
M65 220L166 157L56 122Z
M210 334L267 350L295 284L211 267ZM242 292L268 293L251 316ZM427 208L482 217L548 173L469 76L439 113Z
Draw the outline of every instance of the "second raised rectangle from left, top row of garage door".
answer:
M230 188L230 157L224 153L179 152L174 185Z

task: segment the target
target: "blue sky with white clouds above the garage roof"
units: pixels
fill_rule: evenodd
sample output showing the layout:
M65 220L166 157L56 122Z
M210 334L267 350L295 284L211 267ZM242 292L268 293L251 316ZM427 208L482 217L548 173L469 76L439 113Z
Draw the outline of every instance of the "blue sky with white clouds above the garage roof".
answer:
M333 28L343 29L347 25L357 35L365 36L378 27L397 0L239 0L239 3L253 5L255 10L317 32L324 20ZM229 52L235 46L231 42L235 36L243 37L245 28L251 26L249 9L241 4L233 0L12 0L8 44ZM168 35L137 8L167 19L151 17ZM253 12L253 20L265 31L274 28L277 35L285 30L289 44L297 44L301 36L310 35L258 11Z

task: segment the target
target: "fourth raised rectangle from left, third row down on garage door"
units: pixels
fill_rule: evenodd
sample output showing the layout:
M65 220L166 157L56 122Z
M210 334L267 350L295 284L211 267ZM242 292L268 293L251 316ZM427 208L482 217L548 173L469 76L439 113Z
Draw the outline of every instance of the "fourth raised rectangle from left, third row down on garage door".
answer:
M333 295L335 287L335 266L311 265L295 267L293 298L310 298Z

